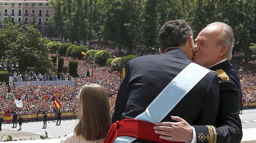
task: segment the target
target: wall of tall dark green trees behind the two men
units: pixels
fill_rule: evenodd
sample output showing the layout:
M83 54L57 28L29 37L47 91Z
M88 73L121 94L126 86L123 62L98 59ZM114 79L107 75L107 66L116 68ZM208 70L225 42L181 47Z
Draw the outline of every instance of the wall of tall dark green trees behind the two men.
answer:
M194 37L209 23L227 23L234 30L235 50L246 58L256 43L256 0L53 0L51 6L58 34L71 42L97 36L128 52L156 48L161 26L183 19Z

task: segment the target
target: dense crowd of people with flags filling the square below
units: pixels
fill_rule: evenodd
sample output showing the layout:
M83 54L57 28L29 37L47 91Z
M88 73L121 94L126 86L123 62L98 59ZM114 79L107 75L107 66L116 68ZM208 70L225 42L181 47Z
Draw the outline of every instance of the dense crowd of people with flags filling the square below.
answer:
M93 44L94 49L102 50L107 48L112 54L115 53L114 48L108 44L102 46L101 44ZM64 66L69 65L69 61L73 58L64 57ZM238 69L239 70L239 69ZM89 71L90 77L86 77ZM12 110L19 111L20 113L36 113L36 112L52 112L54 110L53 101L58 98L62 104L61 111L76 111L77 110L77 92L85 85L85 83L97 83L105 88L109 97L116 96L119 86L121 84L121 77L118 71L111 70L108 66L98 66L90 61L78 61L79 77L73 78L75 81L74 86L67 85L28 85L27 87L19 86L4 86L4 82L0 83L0 110L4 113L10 113ZM23 74L15 75L20 81L33 81L31 79L37 77L36 81L47 80L70 80L69 74L60 73L54 75L53 73L42 75L39 73L37 76L32 71ZM30 77L30 78L29 78ZM29 80L30 79L30 80ZM242 85L243 102L256 102L256 73L250 71L240 71L240 80ZM23 108L16 107L13 100L6 100L8 93L13 93L16 99L23 100ZM4 101L5 102L2 102Z

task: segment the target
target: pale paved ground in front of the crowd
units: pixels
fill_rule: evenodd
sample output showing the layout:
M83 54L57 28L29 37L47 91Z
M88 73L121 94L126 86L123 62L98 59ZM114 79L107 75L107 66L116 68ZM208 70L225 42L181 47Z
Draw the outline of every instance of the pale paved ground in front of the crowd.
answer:
M242 142L256 143L256 109L244 110L243 114L240 114L240 118L243 125ZM47 122L47 128L43 128L43 121L26 122L22 124L21 130L18 130L18 124L17 128L13 128L12 124L3 124L3 130L0 131L0 137L3 136L2 140L8 135L12 135L12 138L16 140L40 139L40 135L45 135L45 131L47 131L48 137L50 139L55 139L51 140L51 142L57 143L59 141L58 138L63 138L73 131L78 120L62 120L61 125L56 125L56 123L56 120L49 120ZM24 143L24 141L19 142ZM45 141L42 140L41 142Z

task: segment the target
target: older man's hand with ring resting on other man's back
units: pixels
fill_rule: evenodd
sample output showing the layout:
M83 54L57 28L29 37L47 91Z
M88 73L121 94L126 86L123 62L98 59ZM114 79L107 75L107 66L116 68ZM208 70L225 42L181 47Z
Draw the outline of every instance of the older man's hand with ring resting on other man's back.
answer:
M159 134L160 139L177 142L191 142L193 139L193 127L178 116L171 116L177 122L159 122L154 126L154 132Z

